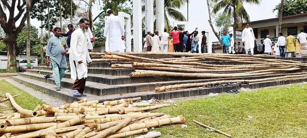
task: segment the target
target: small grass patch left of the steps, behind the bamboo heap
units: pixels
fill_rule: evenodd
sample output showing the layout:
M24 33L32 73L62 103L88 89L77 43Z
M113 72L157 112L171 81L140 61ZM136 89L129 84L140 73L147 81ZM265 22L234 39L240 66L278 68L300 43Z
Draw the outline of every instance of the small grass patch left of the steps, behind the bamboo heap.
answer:
M29 93L25 92L24 90L19 89L18 87L12 85L11 83L7 82L6 80L0 80L0 99L4 99L5 94L10 93L11 95L20 94L19 96L15 97L15 101L18 105L20 105L24 109L33 110L39 104L46 104L42 102L40 99L37 99L30 95ZM2 102L0 104L0 112L6 112L6 110L13 110L12 104L10 100Z

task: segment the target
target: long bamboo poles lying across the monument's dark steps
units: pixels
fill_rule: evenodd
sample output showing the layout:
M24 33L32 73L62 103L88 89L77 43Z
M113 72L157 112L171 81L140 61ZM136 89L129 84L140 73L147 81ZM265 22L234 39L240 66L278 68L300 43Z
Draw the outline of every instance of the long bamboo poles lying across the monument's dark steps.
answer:
M102 54L100 54L102 55ZM150 56L178 56L178 58L162 58L151 59L136 55L150 55ZM161 52L105 52L103 59L118 61L130 61L132 64L112 64L111 68L129 68L134 69L129 76L177 76L177 77L191 77L193 78L235 78L235 77L249 77L249 76L265 76L269 74L282 74L302 72L301 70L307 68L307 64L284 59L269 59L268 55L233 55L233 54L212 54L212 53L161 53ZM210 64L205 61L220 61L232 62L236 64ZM307 73L306 73L307 74ZM307 77L305 73L300 75L286 75L283 77L253 79L253 80L224 80L216 82L203 83L188 83L157 87L156 92L165 90L181 89L204 86L208 84L227 83L227 82L261 82L277 79L293 79Z

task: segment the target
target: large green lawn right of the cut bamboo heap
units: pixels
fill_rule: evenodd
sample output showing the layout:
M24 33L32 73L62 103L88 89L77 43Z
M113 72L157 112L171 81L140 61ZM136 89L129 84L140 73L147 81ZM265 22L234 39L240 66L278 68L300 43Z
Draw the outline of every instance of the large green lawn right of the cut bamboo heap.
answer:
M226 137L207 131L192 121L195 119L238 138L306 137L306 100L306 84L293 85L289 89L275 87L191 99L177 102L177 107L164 107L154 111L172 116L183 115L188 128L181 128L182 124L178 124L154 130L161 131L163 138ZM248 118L248 115L253 118Z

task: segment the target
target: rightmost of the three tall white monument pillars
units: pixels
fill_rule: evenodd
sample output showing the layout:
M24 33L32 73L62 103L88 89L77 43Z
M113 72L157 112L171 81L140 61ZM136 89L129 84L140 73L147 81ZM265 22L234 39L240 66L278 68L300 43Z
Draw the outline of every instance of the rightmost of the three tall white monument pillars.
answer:
M157 31L164 32L165 22L164 22L164 0L157 0Z

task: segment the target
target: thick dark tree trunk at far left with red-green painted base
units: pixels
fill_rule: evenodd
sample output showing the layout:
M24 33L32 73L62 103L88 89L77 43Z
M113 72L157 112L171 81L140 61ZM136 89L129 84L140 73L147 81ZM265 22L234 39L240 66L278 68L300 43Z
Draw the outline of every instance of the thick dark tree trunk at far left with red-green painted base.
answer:
M7 72L16 72L16 44L17 34L6 33L3 40L7 46Z

